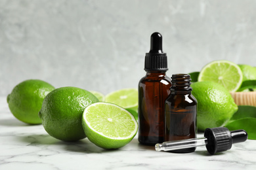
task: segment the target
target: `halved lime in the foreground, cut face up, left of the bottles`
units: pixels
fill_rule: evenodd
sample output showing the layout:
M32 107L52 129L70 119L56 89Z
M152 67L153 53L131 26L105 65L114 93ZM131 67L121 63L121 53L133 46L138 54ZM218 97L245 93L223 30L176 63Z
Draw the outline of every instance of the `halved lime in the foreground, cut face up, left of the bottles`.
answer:
M127 110L112 103L94 103L83 112L82 125L88 139L105 149L116 149L135 137L138 124Z

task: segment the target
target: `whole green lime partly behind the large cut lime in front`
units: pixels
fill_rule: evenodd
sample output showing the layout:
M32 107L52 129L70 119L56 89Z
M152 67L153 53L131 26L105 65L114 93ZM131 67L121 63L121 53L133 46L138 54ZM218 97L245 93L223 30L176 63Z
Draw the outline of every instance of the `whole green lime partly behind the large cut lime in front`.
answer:
M87 90L57 88L43 100L39 117L52 137L62 141L78 141L86 137L81 125L83 110L96 102L98 99Z

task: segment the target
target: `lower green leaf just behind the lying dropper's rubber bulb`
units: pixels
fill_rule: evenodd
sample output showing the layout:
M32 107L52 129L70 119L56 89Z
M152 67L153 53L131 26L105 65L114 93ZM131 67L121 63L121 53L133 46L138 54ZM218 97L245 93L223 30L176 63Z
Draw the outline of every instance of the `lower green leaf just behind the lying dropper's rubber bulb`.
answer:
M242 118L226 124L232 130L244 129L248 133L248 139L256 139L256 118Z

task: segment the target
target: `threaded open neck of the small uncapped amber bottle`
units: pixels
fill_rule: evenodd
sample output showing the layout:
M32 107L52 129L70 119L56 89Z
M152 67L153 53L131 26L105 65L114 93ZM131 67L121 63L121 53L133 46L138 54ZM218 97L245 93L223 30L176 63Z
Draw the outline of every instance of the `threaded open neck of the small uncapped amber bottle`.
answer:
M190 94L192 91L192 88L190 87L191 84L191 78L190 75L187 74L177 74L171 76L171 93L186 93Z

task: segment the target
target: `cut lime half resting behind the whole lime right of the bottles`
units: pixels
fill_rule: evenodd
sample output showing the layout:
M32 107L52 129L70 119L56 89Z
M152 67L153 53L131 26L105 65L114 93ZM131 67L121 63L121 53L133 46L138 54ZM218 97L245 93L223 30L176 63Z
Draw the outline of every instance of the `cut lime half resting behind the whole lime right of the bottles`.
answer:
M235 63L226 60L217 60L203 67L198 76L198 81L217 82L229 92L236 92L242 84L243 74Z

